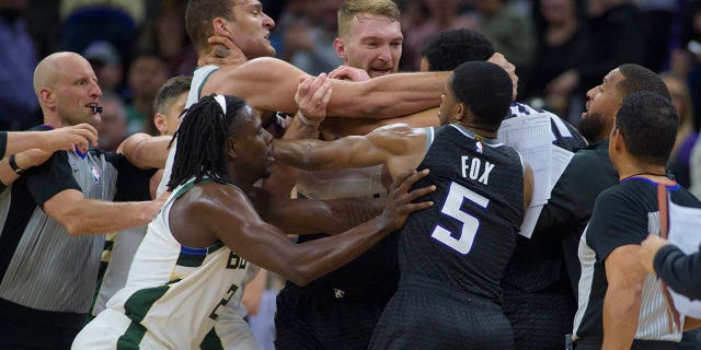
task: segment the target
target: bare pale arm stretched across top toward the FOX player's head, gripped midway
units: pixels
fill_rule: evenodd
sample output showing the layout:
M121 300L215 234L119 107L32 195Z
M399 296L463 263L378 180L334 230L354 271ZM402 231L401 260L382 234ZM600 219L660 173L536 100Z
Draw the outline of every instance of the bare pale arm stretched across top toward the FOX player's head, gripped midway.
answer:
M449 72L398 73L364 82L333 80L327 113L341 117L398 117L440 104ZM258 110L297 112L295 92L308 74L275 58L256 58L221 68L207 81L203 95L217 92L243 97Z

